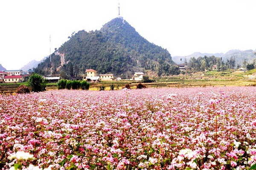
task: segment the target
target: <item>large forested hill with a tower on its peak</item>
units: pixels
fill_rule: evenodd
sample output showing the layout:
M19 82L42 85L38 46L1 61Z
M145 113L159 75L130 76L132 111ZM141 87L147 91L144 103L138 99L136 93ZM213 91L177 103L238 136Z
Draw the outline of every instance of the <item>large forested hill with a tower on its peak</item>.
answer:
M159 61L169 64L171 54L166 49L148 42L122 18L106 23L99 31L79 31L35 69L40 74L73 76L94 69L98 73L134 74L134 71L156 71Z

